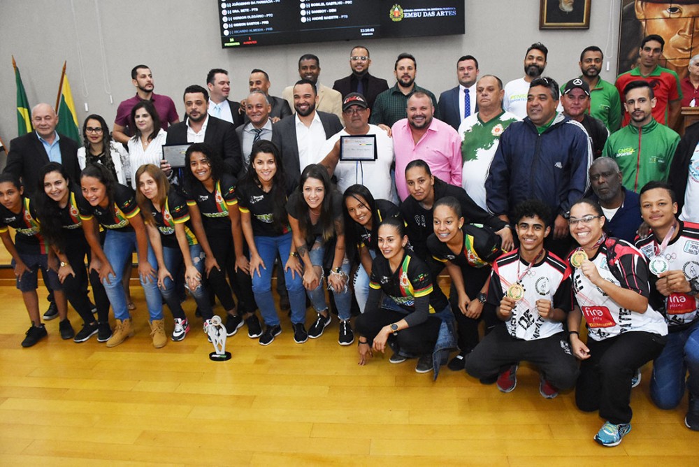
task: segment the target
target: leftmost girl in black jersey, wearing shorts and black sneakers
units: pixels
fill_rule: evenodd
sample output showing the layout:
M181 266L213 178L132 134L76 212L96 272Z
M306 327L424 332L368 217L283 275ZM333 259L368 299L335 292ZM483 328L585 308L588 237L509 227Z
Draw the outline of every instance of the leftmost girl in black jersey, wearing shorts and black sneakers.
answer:
M27 313L31 319L31 326L27 330L27 336L22 340L22 347L31 347L48 336L41 322L36 294L40 268L44 281L54 292L60 318L61 338L72 339L75 332L67 317L68 308L61 282L55 269L49 267L46 245L36 220L36 210L31 200L24 197L23 192L22 184L15 175L11 173L0 175L0 238L12 256L17 289L22 292L24 306L27 307ZM9 227L15 229L14 241L10 237Z

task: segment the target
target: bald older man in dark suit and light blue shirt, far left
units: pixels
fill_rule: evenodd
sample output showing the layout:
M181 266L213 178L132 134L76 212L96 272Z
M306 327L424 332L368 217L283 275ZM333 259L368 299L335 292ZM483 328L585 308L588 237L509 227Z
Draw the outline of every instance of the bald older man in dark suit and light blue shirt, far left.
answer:
M22 178L24 193L33 194L38 189L39 171L49 162L63 164L71 182L80 182L78 143L68 136L58 134L58 115L48 103L40 103L31 109L34 130L10 141L10 152L3 172Z

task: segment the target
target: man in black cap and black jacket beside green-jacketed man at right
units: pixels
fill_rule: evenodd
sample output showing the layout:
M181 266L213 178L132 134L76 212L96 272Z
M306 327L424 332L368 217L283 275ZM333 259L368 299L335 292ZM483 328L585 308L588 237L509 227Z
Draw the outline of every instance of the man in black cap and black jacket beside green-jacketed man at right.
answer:
M580 122L592 145L592 157L597 159L602 155L607 137L610 132L601 120L588 115L590 108L590 87L581 78L573 78L565 83L563 94L561 95L563 113L572 120Z

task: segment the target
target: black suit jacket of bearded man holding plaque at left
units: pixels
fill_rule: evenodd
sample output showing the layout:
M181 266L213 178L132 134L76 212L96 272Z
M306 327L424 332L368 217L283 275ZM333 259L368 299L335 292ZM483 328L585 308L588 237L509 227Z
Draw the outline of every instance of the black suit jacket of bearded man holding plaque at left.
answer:
M232 109L231 109L232 110ZM240 142L233 124L220 118L208 116L204 143L208 143L218 151L226 165L226 171L238 175L243 167L243 157L240 156ZM168 128L166 144L187 144L187 119L175 123Z

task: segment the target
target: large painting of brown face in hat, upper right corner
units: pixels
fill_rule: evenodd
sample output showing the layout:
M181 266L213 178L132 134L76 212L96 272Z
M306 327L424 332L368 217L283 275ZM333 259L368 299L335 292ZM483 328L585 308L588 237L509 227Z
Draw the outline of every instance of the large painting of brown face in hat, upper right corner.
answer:
M660 65L687 76L699 54L699 0L621 0L620 18L617 74L635 68L642 39L658 34L665 41Z

